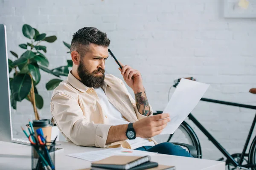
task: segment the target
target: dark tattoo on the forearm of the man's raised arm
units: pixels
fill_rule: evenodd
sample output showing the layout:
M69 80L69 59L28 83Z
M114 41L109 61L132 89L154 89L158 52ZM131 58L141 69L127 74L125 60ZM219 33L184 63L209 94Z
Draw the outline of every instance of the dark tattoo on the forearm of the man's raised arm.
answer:
M135 94L136 99L136 107L139 110L140 114L144 116L149 116L150 114L150 108L148 104L148 99L146 96L146 91L143 92L137 92Z

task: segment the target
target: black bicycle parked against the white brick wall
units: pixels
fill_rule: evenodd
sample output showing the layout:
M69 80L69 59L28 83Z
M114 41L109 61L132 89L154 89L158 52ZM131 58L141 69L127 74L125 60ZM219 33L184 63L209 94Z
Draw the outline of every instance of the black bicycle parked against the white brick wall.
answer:
M190 79L195 81L195 79L193 77L188 77L186 79ZM172 87L177 87L177 85L179 84L180 79L175 80L175 84L171 86ZM170 90L169 89L169 93ZM168 93L168 100L169 100L169 93ZM256 94L256 89L250 89L250 93ZM207 99L207 98L201 98L201 101L205 101L205 102L212 102L212 103L217 103L217 104L223 104L223 105L230 105L230 106L236 106L236 107L241 107L241 108L250 108L253 110L256 110L256 106L253 105L244 105L244 104L240 104L240 103L234 103L234 102L226 102L226 101L221 101L221 100L214 100L214 99ZM154 114L160 114L163 113L163 111L157 111ZM252 136L253 133L253 129L255 127L256 124L256 114L254 116L252 125L250 127L250 131L249 134L247 136L246 142L244 144L244 148L242 153L234 153L232 155L230 155L230 153L228 153L225 148L223 146L221 146L221 144L204 128L203 125L201 125L201 123L192 115L192 113L190 113L188 115L188 118L201 130L201 132L204 133L205 136L207 136L207 138L209 139L209 141L211 141L215 147L218 148L219 151L221 151L221 153L227 158L226 159L226 165L228 166L229 170L234 170L234 169L244 169L244 170L249 170L248 168L251 168L252 170L256 170L256 136L253 139L253 142L250 145L250 149L249 149L249 153L245 153L250 141L250 138ZM198 136L196 135L195 131L192 129L192 127L186 122L183 121L182 124L178 127L178 129L175 131L175 133L173 133L172 135L168 135L168 139L166 142L170 142L171 140L173 140L173 142L177 142L177 137L180 137L180 139L182 139L183 143L188 143L193 145L196 150L197 150L197 158L202 158L202 149L201 149L201 144L199 142ZM177 137L175 137L177 136ZM161 136L158 136L161 138ZM165 136L162 136L162 138L165 138ZM184 140L186 140L184 142ZM245 158L247 157L247 159ZM218 159L219 161L224 160L222 159Z

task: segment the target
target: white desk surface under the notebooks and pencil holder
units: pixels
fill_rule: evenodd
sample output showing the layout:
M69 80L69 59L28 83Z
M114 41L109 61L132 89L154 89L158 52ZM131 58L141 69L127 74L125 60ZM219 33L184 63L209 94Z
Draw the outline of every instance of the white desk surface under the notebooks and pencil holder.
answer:
M78 170L90 167L89 161L66 156L70 153L101 150L96 147L79 147L70 142L60 142L63 151L55 154L55 167L57 170ZM141 151L144 152L144 151ZM159 164L175 165L177 170L225 170L224 161L187 158L156 154L152 161ZM0 141L0 169L1 170L29 170L31 169L31 146Z

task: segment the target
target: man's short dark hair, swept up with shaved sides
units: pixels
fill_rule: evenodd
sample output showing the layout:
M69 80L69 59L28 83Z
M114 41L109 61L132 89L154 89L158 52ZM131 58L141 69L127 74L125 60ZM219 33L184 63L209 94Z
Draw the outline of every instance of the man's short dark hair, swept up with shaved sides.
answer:
M84 57L90 43L108 47L110 40L107 34L94 27L84 27L73 34L70 45L70 51L77 51L81 57Z

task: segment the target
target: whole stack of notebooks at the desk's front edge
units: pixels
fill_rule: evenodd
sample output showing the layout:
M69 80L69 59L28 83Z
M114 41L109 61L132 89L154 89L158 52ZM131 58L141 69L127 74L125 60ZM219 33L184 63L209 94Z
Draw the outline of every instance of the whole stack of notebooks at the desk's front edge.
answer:
M175 166L159 165L150 156L110 156L92 162L91 170L176 170Z

